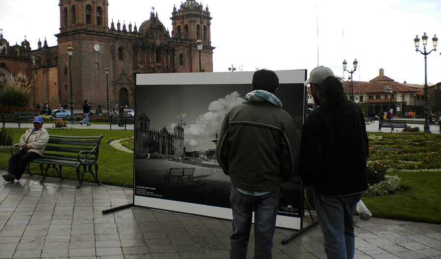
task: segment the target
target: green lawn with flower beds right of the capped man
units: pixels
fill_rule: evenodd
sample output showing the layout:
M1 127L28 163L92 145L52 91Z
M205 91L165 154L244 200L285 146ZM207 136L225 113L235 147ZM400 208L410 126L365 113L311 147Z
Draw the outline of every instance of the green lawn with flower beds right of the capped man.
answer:
M368 133L370 161L401 178L403 190L383 196L364 195L374 217L441 224L441 135Z

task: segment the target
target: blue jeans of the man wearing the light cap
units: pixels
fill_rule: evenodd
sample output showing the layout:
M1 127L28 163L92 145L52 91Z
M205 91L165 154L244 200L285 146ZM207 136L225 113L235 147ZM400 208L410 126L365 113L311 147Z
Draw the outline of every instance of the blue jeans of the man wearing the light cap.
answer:
M353 259L354 211L362 194L326 196L316 191L314 203L328 259Z

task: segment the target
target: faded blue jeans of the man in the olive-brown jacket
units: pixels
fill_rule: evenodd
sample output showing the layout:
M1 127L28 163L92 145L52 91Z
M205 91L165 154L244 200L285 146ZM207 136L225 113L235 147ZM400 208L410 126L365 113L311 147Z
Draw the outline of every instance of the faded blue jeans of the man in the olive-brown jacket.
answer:
M233 211L233 235L230 258L246 258L251 219L254 209L254 258L271 259L272 237L279 208L280 189L260 196L246 195L231 185L230 205Z

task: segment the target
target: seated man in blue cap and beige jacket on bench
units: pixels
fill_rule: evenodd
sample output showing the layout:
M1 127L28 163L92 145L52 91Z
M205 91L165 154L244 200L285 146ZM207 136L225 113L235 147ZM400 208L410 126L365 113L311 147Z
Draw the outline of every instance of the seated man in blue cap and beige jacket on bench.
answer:
M35 117L33 124L34 128L27 129L20 137L20 150L9 158L8 173L1 175L6 182L12 182L14 179L20 180L29 161L33 158L40 158L45 152L49 134L43 128L43 118Z

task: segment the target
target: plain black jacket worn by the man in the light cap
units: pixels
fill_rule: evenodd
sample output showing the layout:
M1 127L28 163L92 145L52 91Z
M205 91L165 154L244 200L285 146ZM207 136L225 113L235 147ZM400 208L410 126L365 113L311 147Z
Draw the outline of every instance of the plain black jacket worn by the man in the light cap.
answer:
M368 190L366 160L369 151L365 120L360 108L346 100L343 121L329 116L324 104L309 114L302 129L300 173L305 185L323 195L340 196Z

